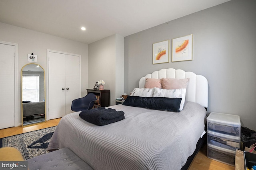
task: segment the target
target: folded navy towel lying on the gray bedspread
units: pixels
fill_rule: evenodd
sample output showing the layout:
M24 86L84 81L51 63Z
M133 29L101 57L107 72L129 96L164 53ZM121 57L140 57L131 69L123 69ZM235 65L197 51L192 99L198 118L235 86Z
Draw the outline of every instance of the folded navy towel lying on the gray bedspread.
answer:
M96 109L83 110L79 116L85 121L102 126L124 119L124 112L111 108L98 107Z

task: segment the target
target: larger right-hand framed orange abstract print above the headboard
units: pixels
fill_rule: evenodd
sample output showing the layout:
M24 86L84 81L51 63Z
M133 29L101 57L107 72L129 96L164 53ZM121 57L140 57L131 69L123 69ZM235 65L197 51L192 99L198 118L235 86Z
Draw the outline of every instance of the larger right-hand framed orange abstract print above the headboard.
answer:
M193 34L172 39L172 62L192 60Z

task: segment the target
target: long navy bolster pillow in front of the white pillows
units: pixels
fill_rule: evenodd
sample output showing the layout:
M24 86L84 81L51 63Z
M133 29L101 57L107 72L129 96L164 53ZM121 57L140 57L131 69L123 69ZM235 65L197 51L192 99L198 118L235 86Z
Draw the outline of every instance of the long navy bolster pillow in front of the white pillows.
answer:
M123 105L144 108L146 107L154 110L180 112L181 100L182 98L127 96Z

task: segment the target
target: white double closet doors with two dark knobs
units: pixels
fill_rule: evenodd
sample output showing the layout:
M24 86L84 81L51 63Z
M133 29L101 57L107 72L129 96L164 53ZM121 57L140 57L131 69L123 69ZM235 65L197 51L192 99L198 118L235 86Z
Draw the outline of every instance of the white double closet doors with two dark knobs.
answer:
M71 104L80 98L80 57L49 52L49 119L72 113Z

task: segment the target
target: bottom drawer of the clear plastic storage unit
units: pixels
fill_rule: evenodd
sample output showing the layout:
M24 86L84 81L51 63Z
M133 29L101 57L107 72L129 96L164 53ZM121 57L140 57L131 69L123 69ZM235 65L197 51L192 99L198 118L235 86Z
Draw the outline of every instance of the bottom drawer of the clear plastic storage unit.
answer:
M207 144L207 157L231 166L235 165L236 151Z

